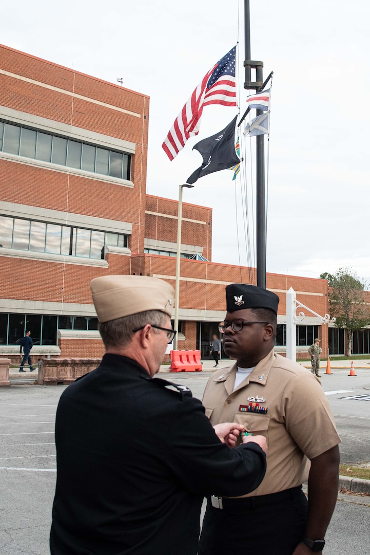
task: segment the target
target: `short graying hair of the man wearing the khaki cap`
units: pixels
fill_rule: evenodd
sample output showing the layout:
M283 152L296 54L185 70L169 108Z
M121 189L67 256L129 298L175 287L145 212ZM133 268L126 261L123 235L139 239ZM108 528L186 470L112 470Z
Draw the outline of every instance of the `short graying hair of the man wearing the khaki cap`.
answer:
M105 347L126 347L132 341L132 330L146 326L146 324L163 326L166 320L167 314L165 312L146 310L145 312L137 312L137 314L131 314L116 320L99 322L97 329L100 332ZM156 329L154 331L157 332Z

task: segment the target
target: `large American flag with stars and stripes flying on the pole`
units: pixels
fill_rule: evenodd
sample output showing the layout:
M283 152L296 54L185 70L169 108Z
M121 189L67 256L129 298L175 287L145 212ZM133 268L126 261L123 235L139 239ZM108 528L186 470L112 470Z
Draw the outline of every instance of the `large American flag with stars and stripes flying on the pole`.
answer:
M204 75L201 83L174 120L162 144L162 148L170 160L173 160L180 152L189 137L199 133L204 106L208 104L237 105L235 49L234 46Z

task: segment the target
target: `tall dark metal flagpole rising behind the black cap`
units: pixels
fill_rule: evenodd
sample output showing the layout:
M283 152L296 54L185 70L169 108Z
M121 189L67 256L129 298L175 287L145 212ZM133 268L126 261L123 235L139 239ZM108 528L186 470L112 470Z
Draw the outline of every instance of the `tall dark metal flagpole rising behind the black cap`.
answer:
M263 62L250 59L250 7L244 0L244 47L245 89L260 90L263 85ZM255 81L251 80L251 69L255 69ZM256 110L257 115L263 110ZM257 285L266 289L266 199L265 199L265 139L256 137L256 265Z

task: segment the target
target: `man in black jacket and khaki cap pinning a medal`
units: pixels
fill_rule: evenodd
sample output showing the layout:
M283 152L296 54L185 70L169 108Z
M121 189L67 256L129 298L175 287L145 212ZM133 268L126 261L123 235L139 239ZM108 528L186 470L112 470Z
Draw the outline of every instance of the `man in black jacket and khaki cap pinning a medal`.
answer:
M50 551L195 555L203 496L258 487L265 438L229 448L243 426L213 428L187 387L153 377L175 333L171 285L105 276L91 290L106 354L60 397Z

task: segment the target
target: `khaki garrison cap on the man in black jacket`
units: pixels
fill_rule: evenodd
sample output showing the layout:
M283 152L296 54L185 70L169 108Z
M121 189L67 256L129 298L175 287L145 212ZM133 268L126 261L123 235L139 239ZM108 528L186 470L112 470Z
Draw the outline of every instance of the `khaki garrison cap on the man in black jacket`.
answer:
M146 310L172 316L174 290L167 281L147 276L102 276L90 283L99 322L108 322Z

